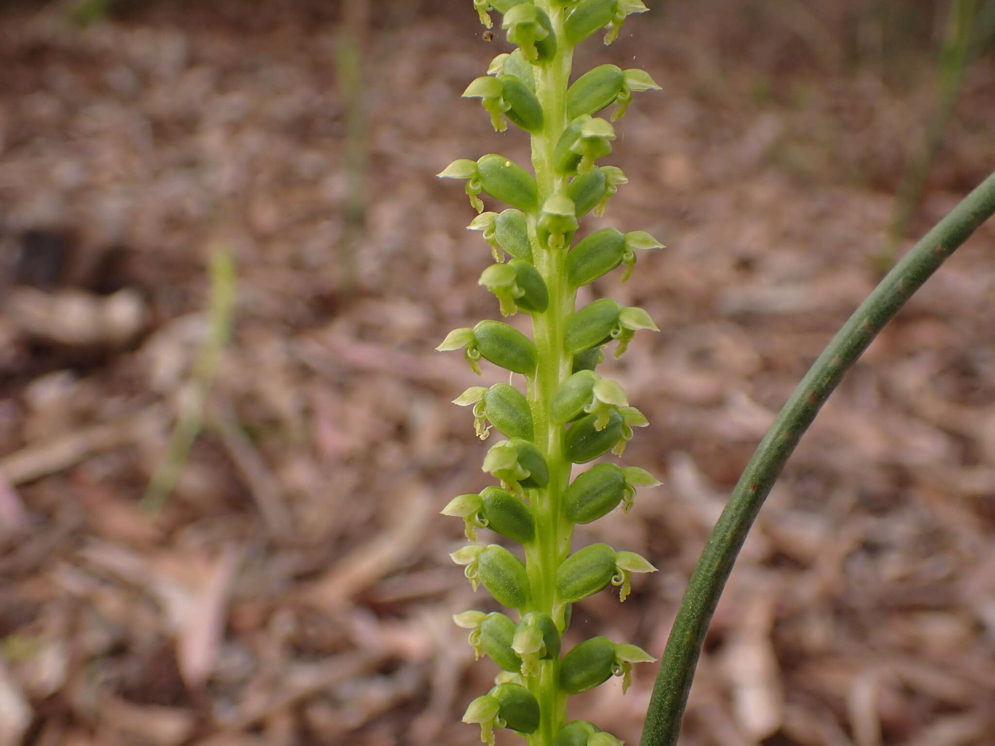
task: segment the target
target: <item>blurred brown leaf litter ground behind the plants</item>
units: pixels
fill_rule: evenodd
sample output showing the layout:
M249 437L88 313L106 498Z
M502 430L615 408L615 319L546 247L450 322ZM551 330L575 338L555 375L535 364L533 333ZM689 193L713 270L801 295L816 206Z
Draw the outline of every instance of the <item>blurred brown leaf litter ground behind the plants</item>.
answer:
M661 572L568 642L659 655L739 469L891 256L928 122L950 104L909 239L995 165L995 57L944 98L947 2L650 5L577 69L664 89L588 226L670 248L587 297L662 328L607 370L651 421L625 462L665 483L578 534ZM506 49L469 0L351 7L0 3L0 744L478 742L459 718L496 669L450 617L492 602L437 512L488 483L448 403L480 379L432 348L497 304L433 174L526 140L459 97ZM993 301L989 224L772 493L683 743L995 743ZM637 743L654 670L575 714Z

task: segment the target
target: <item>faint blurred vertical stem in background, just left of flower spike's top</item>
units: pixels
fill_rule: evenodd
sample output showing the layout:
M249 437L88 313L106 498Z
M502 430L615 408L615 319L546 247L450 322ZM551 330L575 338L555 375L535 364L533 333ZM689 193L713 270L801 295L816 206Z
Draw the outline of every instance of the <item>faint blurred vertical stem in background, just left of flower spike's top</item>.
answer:
M363 48L369 26L366 0L346 0L336 39L336 84L345 113L342 173L345 177L337 288L355 284L356 254L366 231L366 174L369 143L363 96Z

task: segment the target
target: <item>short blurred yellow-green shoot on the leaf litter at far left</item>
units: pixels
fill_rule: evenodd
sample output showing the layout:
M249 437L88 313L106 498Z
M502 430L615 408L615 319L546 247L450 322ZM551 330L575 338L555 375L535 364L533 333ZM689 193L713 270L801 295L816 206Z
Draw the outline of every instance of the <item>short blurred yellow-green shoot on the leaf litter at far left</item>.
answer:
M165 505L176 486L190 449L204 427L211 385L232 335L237 276L235 260L227 246L218 245L212 249L208 274L211 289L207 333L198 350L190 380L180 392L176 425L169 438L165 456L152 473L141 501L141 506L152 513L157 513Z

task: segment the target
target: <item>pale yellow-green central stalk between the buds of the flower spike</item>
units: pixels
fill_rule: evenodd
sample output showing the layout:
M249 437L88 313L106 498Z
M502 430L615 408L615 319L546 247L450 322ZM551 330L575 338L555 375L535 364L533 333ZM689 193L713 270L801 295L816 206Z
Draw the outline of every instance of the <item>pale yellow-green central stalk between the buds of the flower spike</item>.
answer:
M549 0L539 0L561 40L556 56L546 65L533 68L536 96L542 104L543 128L531 137L532 167L539 190L539 205L551 194L566 188L567 177L553 168L553 150L566 128L566 89L570 79L573 48L562 34L562 10ZM535 375L529 380L528 403L535 423L535 445L549 466L549 484L545 489L530 490L536 536L525 547L525 566L530 585L530 608L548 614L560 632L565 627L564 604L556 597L556 570L570 551L572 524L565 520L562 494L570 481L570 464L563 458L563 428L552 422L549 412L553 395L570 375L571 359L563 348L565 319L574 309L575 293L567 286L566 252L540 246L536 232L536 215L528 216L529 237L535 268L546 283L549 305L543 313L532 315L532 338L538 353ZM559 660L540 661L536 673L527 677L529 690L539 702L540 722L528 736L530 746L547 746L566 720L566 695L559 691Z

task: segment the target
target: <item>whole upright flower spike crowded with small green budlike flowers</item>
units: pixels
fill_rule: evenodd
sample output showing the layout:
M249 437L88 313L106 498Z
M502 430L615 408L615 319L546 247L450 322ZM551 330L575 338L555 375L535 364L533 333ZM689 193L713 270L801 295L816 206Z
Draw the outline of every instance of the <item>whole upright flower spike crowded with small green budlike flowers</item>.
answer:
M571 481L575 464L622 456L633 428L646 426L623 387L596 370L615 342L625 352L639 330L659 331L639 307L601 298L576 307L578 288L624 265L628 280L636 253L662 245L644 231L613 228L575 241L580 219L602 215L618 187L621 169L601 162L612 152L615 125L632 94L659 90L644 71L601 65L572 83L574 48L597 32L616 39L626 18L647 7L641 0L474 0L491 28L501 15L513 51L500 54L487 75L464 96L480 98L496 130L508 123L531 138L531 172L490 153L460 159L439 176L462 179L495 264L480 284L497 297L503 316L531 317L531 338L513 326L484 320L455 329L440 350L463 350L471 368L481 360L510 373L507 383L474 386L455 400L470 407L474 430L486 440L504 438L488 450L484 471L498 482L462 494L443 509L464 521L467 546L452 554L476 591L479 586L511 610L468 611L455 616L470 630L478 657L489 656L500 672L494 688L474 699L464 721L494 744L495 729L524 735L532 746L612 746L620 741L585 720L567 722L568 695L612 676L628 688L633 663L653 660L636 646L604 637L561 651L572 605L607 586L630 593L632 575L656 570L640 555L592 544L571 553L576 524L590 523L633 505L637 487L659 484L645 469L602 462ZM614 105L610 119L598 116ZM485 211L482 195L504 203ZM524 388L515 386L514 374ZM482 530L520 545L523 558L503 544L479 543Z

